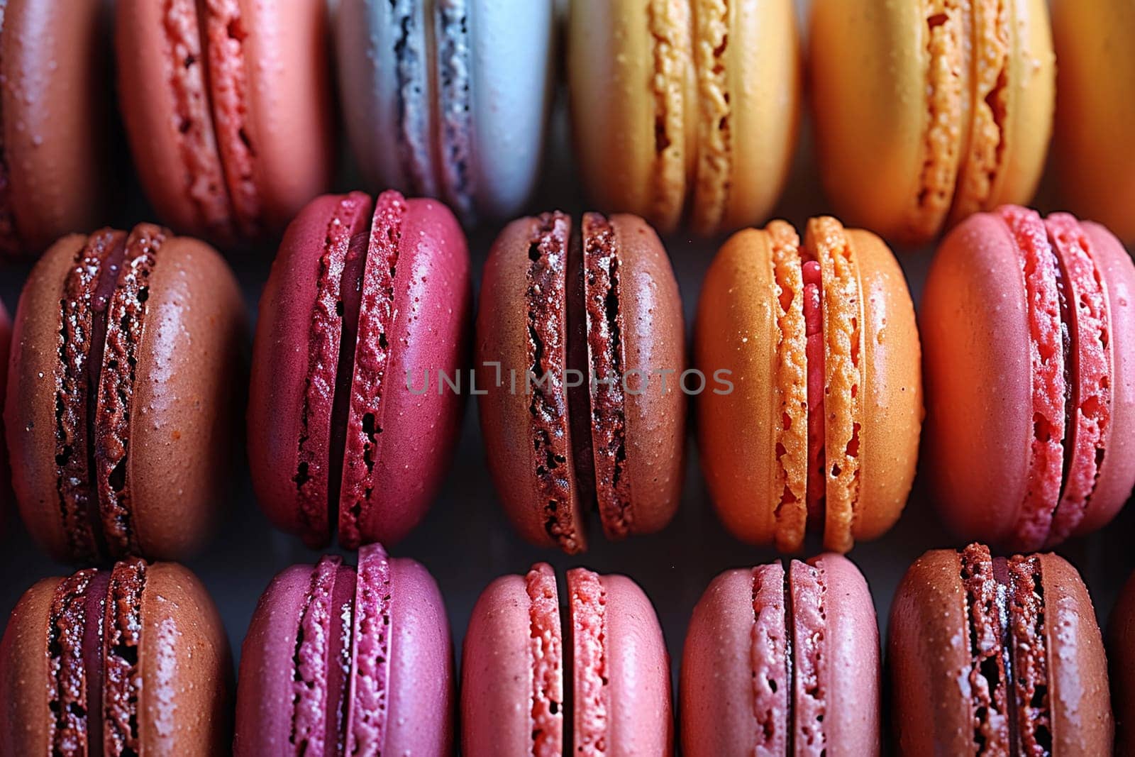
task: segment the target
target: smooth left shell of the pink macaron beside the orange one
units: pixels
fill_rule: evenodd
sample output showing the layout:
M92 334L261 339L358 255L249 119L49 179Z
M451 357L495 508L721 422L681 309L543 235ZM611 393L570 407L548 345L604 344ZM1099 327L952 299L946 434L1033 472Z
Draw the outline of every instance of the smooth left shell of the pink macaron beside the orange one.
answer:
M1004 541L1028 486L1033 404L1024 275L999 218L972 216L945 237L918 323L939 512L959 536Z

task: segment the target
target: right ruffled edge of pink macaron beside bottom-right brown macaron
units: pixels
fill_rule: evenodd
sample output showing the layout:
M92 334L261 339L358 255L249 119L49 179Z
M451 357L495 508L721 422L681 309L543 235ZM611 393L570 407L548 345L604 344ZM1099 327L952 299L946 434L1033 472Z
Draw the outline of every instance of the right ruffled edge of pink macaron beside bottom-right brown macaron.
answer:
M827 655L824 651L824 572L792 561L789 584L792 591L792 683L796 706L793 747L797 755L819 755L826 748L824 714L827 708Z

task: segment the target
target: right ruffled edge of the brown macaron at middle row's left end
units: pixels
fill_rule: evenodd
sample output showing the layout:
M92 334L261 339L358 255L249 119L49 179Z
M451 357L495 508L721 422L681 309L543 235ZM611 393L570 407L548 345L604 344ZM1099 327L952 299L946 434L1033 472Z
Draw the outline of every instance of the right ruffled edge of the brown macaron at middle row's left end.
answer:
M145 329L150 277L168 232L140 224L126 241L121 271L107 308L107 334L94 413L94 463L102 530L115 555L136 554L131 515L131 418L138 345Z

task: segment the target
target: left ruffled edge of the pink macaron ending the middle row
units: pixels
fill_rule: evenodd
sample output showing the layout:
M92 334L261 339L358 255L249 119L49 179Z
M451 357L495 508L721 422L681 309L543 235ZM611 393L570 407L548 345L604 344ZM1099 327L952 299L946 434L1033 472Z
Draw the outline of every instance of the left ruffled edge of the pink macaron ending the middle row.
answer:
M1004 207L999 212L1023 255L1028 302L1033 439L1029 444L1029 485L1017 520L1016 544L1034 550L1048 539L1063 474L1065 365L1059 271L1036 211Z

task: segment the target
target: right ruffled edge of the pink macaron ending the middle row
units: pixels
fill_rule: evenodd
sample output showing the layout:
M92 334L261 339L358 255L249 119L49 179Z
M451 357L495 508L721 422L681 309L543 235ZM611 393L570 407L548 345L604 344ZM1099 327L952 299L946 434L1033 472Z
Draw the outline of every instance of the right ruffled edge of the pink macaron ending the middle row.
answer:
M1048 545L1067 539L1087 510L1100 474L1111 421L1111 379L1107 295L1083 228L1073 216L1054 213L1044 222L1060 260L1070 318L1070 436L1063 494L1052 519Z

